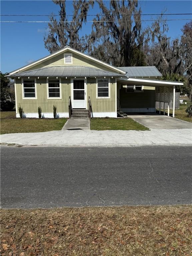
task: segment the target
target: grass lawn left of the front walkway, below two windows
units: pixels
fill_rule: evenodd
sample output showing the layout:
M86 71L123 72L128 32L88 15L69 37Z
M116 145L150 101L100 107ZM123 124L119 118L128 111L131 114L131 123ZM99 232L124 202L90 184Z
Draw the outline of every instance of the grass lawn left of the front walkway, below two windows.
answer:
M0 112L1 134L61 130L67 118L16 118L15 111Z

